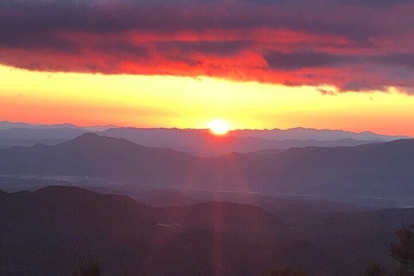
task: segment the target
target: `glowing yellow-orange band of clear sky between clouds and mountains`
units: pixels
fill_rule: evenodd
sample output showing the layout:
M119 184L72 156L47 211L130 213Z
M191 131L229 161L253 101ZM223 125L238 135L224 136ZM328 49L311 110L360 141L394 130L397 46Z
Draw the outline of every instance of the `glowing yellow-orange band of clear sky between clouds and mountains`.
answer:
M205 128L222 119L232 129L340 128L414 136L414 96L395 91L322 95L317 88L0 65L0 121Z

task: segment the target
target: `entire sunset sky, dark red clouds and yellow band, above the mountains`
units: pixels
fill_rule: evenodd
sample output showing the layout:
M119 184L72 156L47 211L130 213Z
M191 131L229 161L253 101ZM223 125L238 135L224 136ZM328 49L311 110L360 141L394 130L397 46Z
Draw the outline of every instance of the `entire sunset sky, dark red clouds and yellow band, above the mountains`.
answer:
M414 136L409 0L3 0L0 121Z

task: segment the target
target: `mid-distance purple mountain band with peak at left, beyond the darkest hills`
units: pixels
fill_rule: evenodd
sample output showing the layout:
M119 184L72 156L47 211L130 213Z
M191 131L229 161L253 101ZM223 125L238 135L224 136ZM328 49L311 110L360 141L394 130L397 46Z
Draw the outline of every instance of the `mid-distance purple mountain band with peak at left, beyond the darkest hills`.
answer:
M0 149L0 174L65 175L152 187L350 196L413 196L414 140L199 158L83 134L56 145Z

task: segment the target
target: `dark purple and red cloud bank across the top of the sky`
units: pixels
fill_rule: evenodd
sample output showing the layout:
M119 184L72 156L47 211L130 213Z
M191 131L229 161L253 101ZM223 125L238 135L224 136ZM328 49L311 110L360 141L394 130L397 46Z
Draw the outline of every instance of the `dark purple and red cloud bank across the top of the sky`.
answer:
M0 63L410 92L413 10L405 0L5 0Z

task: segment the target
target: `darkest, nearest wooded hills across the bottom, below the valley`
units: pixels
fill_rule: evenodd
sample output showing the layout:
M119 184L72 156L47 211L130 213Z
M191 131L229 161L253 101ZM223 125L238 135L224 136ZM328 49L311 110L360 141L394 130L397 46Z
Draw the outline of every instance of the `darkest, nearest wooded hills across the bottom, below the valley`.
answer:
M311 276L359 275L414 211L297 212L208 202L150 208L76 187L0 192L0 275L73 275L88 255L103 275L256 275L293 266Z

